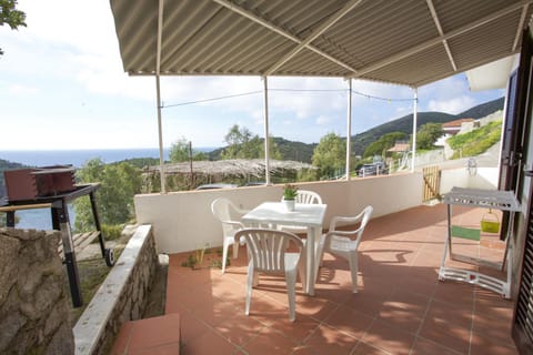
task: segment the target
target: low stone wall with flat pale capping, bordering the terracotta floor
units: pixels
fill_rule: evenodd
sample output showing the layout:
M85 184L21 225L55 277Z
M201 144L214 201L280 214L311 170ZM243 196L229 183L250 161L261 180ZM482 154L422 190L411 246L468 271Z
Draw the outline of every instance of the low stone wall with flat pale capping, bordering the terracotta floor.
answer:
M151 226L141 225L78 320L76 354L108 354L120 326L141 318L157 266Z

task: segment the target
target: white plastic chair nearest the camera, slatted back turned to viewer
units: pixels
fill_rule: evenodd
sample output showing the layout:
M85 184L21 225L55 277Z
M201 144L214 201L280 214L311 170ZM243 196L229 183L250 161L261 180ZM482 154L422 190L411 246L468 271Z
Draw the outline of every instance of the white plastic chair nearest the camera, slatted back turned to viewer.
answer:
M300 280L305 280L304 268L300 263L303 251L302 240L289 232L266 229L241 230L235 233L235 240L241 237L247 241L249 256L245 315L250 314L252 286L259 284L259 273L284 274L289 296L289 320L293 322L295 318L296 272L300 273ZM291 244L298 252L288 252ZM291 246L291 250L294 248Z

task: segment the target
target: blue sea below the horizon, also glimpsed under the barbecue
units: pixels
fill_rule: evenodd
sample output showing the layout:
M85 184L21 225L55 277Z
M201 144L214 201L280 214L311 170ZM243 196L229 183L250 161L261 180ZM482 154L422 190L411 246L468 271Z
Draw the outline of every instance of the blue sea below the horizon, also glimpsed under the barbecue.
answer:
M215 146L198 148L201 152L211 152ZM169 159L169 148L163 149L164 160ZM0 159L29 166L72 165L81 168L91 159L100 159L109 164L134 158L157 158L159 149L93 149L93 150L39 150L39 151L0 151ZM16 212L19 229L52 230L50 210L36 209ZM71 225L76 221L76 212L69 205Z

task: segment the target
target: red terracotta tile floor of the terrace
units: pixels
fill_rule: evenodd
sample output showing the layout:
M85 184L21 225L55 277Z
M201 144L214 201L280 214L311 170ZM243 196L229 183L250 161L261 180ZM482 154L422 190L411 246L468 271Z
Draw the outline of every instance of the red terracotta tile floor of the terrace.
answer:
M483 212L454 207L454 221L479 224ZM261 277L244 315L243 246L223 275L181 266L190 253L170 255L165 312L180 314L181 354L517 354L510 336L512 301L438 280L445 229L442 204L373 219L359 248L359 293L351 292L348 262L326 254L315 296L296 284L294 323L284 281L269 276ZM475 256L503 257L497 236L459 244ZM145 335L132 332L130 342L137 336Z

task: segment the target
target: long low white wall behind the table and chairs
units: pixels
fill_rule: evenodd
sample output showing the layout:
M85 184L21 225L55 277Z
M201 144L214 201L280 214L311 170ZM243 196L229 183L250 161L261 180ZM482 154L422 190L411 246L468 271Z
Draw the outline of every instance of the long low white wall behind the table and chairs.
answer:
M333 215L355 215L365 205L374 207L373 216L394 213L422 202L422 174L404 173L348 181L298 184L318 192L328 211L324 229ZM135 195L137 222L151 224L158 253L179 253L222 245L222 227L211 213L211 202L224 196L243 209L265 201L280 201L282 185L227 190L173 192Z

